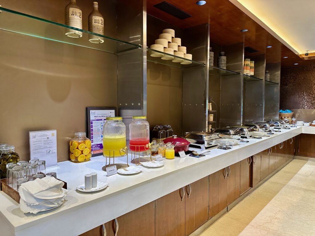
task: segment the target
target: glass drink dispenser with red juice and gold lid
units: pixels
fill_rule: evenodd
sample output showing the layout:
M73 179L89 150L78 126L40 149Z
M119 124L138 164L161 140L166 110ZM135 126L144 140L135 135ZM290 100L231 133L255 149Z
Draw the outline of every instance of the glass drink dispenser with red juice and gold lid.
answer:
M130 151L145 152L149 149L150 127L146 116L133 116L129 124Z

